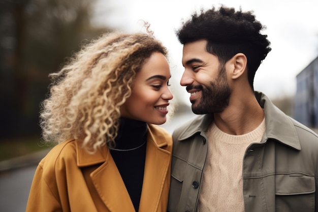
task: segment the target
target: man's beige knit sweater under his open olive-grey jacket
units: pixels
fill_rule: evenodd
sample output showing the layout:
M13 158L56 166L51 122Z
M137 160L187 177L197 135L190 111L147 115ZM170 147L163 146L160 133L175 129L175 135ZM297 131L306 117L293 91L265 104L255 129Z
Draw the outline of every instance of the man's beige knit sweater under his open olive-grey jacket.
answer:
M207 132L209 149L199 194L199 212L244 211L243 157L249 144L260 142L264 132L265 118L257 129L244 135L224 133L212 124Z

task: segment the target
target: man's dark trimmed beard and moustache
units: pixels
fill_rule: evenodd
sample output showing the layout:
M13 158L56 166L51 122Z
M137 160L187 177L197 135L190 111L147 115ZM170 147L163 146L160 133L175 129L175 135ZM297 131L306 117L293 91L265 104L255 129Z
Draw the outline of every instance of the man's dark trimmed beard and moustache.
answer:
M189 85L191 87L192 85ZM195 114L218 113L224 111L229 106L231 88L227 81L226 70L224 66L219 68L216 79L210 82L209 86L192 86L201 89L200 100L192 101L192 111ZM199 101L199 102L198 102Z

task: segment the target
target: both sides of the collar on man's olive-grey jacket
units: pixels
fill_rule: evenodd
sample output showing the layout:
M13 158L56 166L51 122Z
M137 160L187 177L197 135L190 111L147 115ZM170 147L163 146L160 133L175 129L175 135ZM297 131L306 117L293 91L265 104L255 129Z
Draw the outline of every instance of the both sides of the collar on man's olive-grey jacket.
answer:
M299 138L291 118L279 110L263 93L255 92L255 96L265 112L264 139L274 139L300 150ZM197 133L206 138L206 131L213 119L213 114L198 115L189 125L186 125L179 140L185 140Z

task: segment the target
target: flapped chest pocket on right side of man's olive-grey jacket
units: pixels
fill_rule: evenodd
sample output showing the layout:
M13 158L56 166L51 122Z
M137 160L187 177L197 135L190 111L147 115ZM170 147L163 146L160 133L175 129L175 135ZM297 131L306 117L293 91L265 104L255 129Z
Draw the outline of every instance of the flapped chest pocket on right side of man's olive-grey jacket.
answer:
M275 176L276 211L314 211L315 179L301 173Z

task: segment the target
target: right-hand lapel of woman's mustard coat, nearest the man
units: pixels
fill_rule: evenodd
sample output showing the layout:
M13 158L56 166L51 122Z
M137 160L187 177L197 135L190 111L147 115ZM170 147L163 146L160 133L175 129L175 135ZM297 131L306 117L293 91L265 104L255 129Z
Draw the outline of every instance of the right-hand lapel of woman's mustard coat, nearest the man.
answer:
M157 211L160 203L167 172L171 162L171 153L161 148L166 146L167 138L153 135L148 129L144 180L139 212Z

